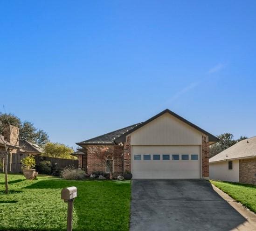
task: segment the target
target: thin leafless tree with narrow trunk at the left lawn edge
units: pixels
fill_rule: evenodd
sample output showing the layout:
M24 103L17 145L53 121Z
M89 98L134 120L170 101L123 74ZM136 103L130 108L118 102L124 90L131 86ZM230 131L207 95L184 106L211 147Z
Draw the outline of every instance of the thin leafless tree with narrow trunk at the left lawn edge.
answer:
M10 129L10 134L13 132L17 132L17 140L14 144L8 142L6 139L4 139L4 136L0 135L0 145L4 147L4 149L0 149L0 153L4 155L4 173L5 173L5 193L8 193L8 156L12 155L12 152L14 150L18 150L18 142L19 142L19 130L14 129L14 126L11 126L10 122L7 121L7 124L3 124L3 122L0 120L0 125L4 125L5 129ZM13 130L14 129L14 130Z

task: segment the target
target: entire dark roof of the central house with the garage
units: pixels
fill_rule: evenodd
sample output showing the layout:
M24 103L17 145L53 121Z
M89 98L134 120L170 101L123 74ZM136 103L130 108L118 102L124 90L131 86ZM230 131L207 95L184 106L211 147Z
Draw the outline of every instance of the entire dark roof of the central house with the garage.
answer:
M173 115L174 117L176 117L176 118L180 119L181 121L187 123L188 125L190 125L194 129L197 129L200 132L202 132L203 134L207 135L209 137L209 142L214 143L214 142L218 141L217 137L215 137L212 134L208 133L207 131L199 128L198 126L196 126L192 122L187 121L186 119L182 118L180 115L175 114L171 110L166 109L166 110L160 112L159 114L153 116L152 118L148 119L145 122L136 123L136 124L133 124L131 126L128 126L128 127L122 128L122 129L118 129L118 130L109 132L107 134L104 134L102 136L97 136L97 137L94 137L92 139L85 140L83 142L76 143L76 144L77 145L114 145L114 144L118 144L118 143L121 143L121 142L125 142L125 136L129 135L131 132L141 128L142 126L146 125L147 123L151 122L152 120L158 118L159 116L161 116L165 113L169 113L169 114Z

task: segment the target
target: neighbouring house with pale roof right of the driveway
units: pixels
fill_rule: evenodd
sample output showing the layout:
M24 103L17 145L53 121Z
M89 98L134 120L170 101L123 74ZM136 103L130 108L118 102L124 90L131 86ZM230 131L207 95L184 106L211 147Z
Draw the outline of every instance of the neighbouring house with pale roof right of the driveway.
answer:
M209 159L210 179L256 184L256 136Z

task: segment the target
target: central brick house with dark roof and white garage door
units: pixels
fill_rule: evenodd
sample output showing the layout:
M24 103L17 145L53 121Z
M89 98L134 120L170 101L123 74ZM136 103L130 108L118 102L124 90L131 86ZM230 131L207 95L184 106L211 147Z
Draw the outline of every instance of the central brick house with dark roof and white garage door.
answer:
M166 109L149 120L77 143L79 167L89 174L107 171L92 147L111 147L114 176L133 178L206 178L209 147L218 138Z

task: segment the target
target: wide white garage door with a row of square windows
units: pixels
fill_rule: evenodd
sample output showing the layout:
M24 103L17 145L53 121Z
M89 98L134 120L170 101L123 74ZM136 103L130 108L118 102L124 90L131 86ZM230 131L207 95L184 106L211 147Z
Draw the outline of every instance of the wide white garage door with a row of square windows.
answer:
M132 146L134 179L201 178L200 146Z

